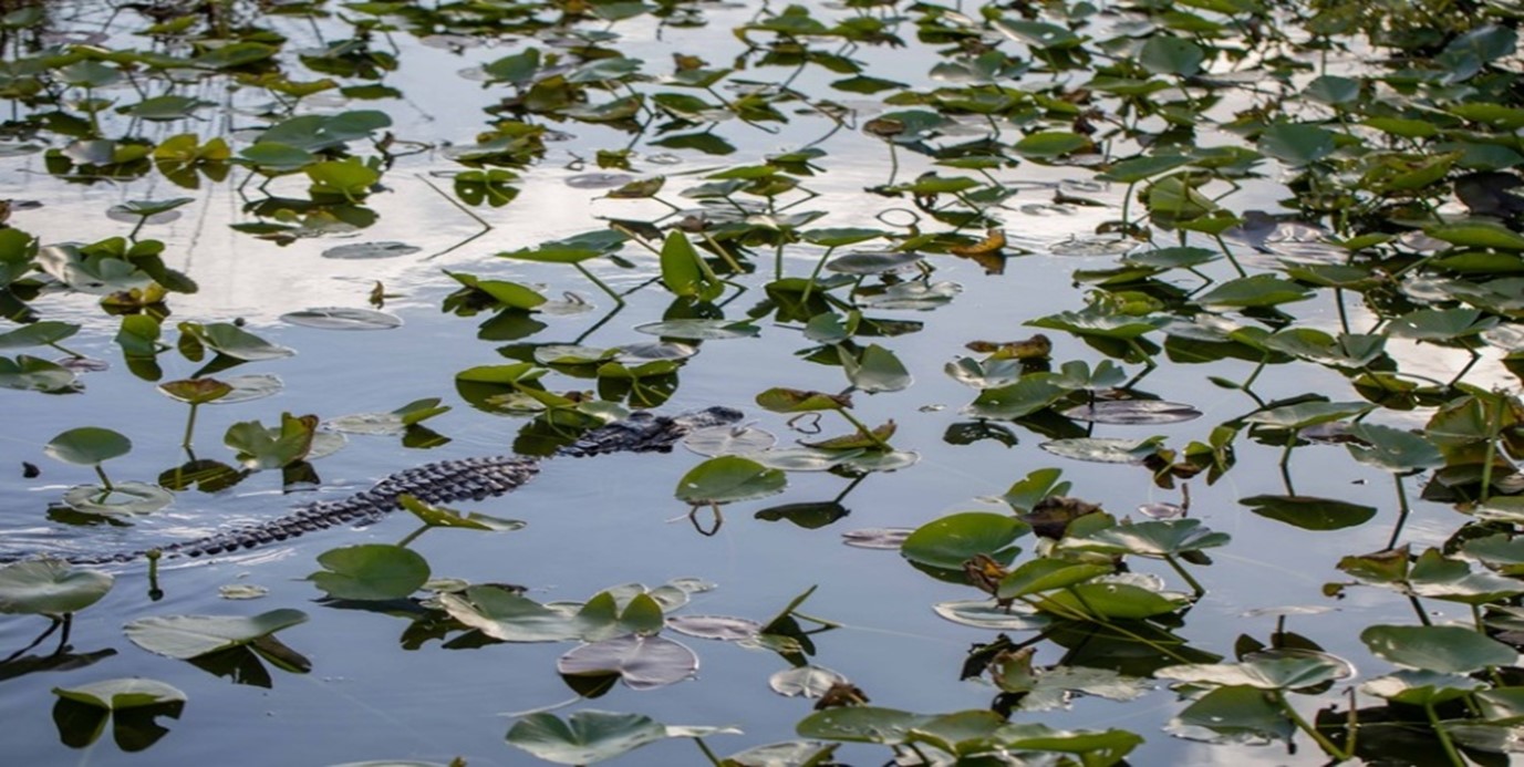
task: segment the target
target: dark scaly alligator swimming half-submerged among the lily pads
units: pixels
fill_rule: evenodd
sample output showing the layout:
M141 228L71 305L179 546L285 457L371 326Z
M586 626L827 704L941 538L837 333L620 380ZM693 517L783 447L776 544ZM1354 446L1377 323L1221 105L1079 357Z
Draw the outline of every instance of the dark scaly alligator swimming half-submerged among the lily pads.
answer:
M741 421L741 410L724 406L706 407L675 416L636 412L623 421L614 421L588 432L576 442L558 448L550 457L587 457L607 453L668 453L680 439L696 428L730 425ZM154 552L165 558L212 557L283 541L335 525L372 521L398 509L398 497L404 494L425 503L448 503L465 499L482 500L501 496L512 493L538 473L539 459L532 456L439 461L398 471L376 482L370 489L355 493L343 500L305 503L283 517L233 528L204 538L120 554L49 554L47 557L70 564L126 563L149 557ZM30 554L0 552L0 563L32 557Z

